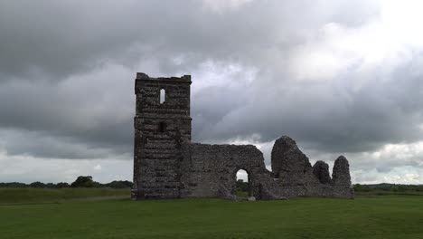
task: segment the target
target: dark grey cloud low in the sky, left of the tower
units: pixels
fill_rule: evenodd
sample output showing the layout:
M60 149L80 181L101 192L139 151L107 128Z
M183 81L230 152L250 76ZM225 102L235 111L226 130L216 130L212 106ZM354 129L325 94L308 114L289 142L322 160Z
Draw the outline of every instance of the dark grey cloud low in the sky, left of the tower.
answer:
M0 123L3 129L16 130L15 137L3 136L8 153L92 158L100 152L103 157L131 152L133 97L121 93L130 92L133 81L126 74L124 69L110 67L54 84L5 82L0 89ZM127 81L119 81L124 75Z

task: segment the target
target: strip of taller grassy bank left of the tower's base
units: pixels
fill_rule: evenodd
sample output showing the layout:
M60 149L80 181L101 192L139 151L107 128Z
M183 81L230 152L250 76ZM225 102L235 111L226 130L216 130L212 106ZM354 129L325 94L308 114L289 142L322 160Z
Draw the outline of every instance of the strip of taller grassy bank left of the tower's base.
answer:
M128 198L130 189L112 188L0 188L0 204L52 203L66 200L121 197Z

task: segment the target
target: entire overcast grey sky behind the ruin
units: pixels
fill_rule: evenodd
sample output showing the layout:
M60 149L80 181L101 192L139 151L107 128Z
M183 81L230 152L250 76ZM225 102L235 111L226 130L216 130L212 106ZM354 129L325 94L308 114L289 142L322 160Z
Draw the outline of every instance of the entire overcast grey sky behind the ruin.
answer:
M192 75L193 141L288 135L423 184L423 3L0 1L0 182L132 180L134 79Z

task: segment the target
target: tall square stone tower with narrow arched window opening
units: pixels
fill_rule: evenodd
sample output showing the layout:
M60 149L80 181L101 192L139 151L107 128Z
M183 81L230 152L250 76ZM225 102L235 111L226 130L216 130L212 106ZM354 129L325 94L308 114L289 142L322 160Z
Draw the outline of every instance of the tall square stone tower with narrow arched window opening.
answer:
M191 141L190 87L190 75L136 73L133 199L181 196L181 146Z

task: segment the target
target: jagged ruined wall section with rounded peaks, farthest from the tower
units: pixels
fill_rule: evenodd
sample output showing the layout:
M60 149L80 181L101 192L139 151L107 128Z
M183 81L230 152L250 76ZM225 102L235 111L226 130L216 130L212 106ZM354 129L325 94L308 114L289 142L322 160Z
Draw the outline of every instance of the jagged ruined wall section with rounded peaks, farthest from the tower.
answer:
M317 161L314 167L296 141L287 136L277 139L272 149L272 169L277 178L275 194L278 196L324 196L353 198L348 160L341 156L335 160L334 174L329 166Z

